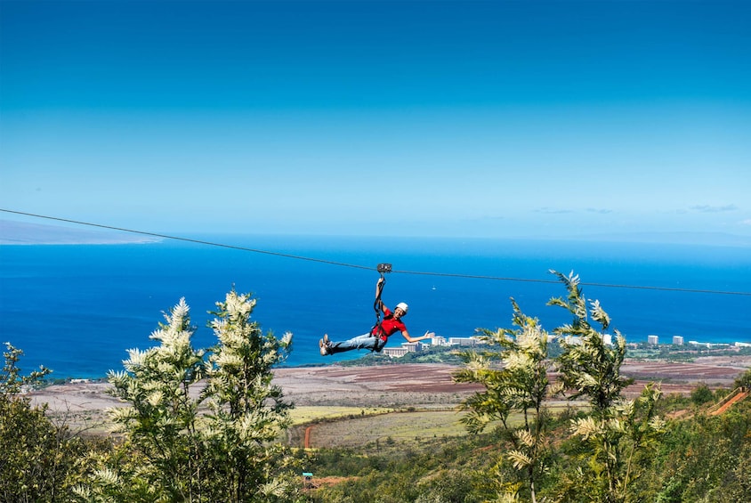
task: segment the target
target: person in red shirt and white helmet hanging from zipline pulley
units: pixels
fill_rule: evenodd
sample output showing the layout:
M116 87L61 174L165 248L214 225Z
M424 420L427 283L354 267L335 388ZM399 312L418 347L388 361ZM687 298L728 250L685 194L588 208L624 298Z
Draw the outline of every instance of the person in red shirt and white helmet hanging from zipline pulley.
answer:
M344 353L345 351L351 351L354 349L368 349L380 353L381 350L384 349L384 345L388 342L389 337L397 332L401 332L402 337L406 338L410 343L416 343L424 339L435 337L435 334L431 331L426 331L422 337L411 337L409 335L407 326L404 324L404 321L401 320L408 312L408 305L400 302L399 304L396 304L396 307L392 312L381 300L381 294L384 291L384 284L386 282L384 272L391 272L391 264L378 264L378 272L381 273L381 277L376 283L376 302L374 304L374 309L376 310L376 325L374 325L366 334L340 342L332 342L328 339L328 334L324 334L323 338L319 340L321 356ZM381 320L382 312L384 313L383 320Z

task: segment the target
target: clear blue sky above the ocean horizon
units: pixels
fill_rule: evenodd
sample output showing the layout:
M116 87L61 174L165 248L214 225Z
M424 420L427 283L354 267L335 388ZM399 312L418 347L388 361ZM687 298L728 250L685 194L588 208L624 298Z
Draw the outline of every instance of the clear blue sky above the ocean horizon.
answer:
M751 2L0 0L0 23L0 207L751 236Z

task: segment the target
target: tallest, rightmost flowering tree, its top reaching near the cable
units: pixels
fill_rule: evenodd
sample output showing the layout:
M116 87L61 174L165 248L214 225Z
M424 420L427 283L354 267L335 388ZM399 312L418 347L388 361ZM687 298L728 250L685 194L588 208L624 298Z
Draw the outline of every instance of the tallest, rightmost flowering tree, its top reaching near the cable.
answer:
M605 344L603 336L610 326L610 316L596 300L587 310L578 276L573 272L569 276L553 273L566 286L568 296L555 297L549 304L561 306L574 316L571 324L555 329L563 348L557 359L561 384L570 398L585 398L592 408L586 417L574 418L571 423L573 436L581 441L578 455L583 462L561 484L563 500L629 501L644 461L665 430L664 421L656 413L661 393L657 386L648 385L638 400L625 399L622 392L632 382L620 374L626 338L615 330L615 345ZM590 324L590 317L599 324L599 330Z

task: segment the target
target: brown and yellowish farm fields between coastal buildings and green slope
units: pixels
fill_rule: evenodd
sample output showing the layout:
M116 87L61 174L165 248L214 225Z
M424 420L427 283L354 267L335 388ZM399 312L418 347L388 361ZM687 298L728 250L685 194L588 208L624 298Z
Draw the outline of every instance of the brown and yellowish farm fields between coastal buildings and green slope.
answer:
M304 445L304 429L312 446L376 442L382 438L409 439L464 434L456 408L479 385L456 384L448 363L390 363L377 367L328 365L282 368L274 371L292 410L294 445ZM666 394L688 395L696 385L712 389L730 386L751 368L751 356L705 356L694 361L626 360L622 373L634 377L626 394L636 396L650 381ZM553 376L554 377L554 376ZM47 404L52 418L73 429L108 434L105 411L123 404L107 393L106 383L63 383L30 393L32 402ZM568 402L549 403L568 407ZM335 421L335 422L334 422ZM303 429L301 434L298 430ZM336 433L335 433L336 432ZM349 432L353 432L350 434Z

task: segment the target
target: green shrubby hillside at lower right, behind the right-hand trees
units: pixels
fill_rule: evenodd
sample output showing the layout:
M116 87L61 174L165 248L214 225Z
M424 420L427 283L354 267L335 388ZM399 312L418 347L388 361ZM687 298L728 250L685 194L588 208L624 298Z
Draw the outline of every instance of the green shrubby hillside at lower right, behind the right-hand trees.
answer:
M658 405L685 410L689 398L669 397ZM651 455L642 458L650 476L630 484L629 501L660 503L709 503L746 501L751 490L748 468L751 464L751 400L739 402L730 412L708 417L696 414L666 421ZM577 473L579 440L570 437L565 426L571 417L561 416L551 424L553 447L560 446L538 501L605 501L597 493L560 494L562 481ZM467 437L438 437L423 442L380 442L377 446L325 449L308 456L308 468L319 481L331 478L334 485L323 484L311 492L316 502L462 502L480 503L503 500L498 481L516 480L519 472L497 460L508 442L498 430ZM564 457L571 457L569 461ZM585 487L587 482L584 481ZM521 497L520 501L530 501Z

